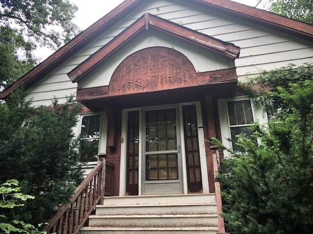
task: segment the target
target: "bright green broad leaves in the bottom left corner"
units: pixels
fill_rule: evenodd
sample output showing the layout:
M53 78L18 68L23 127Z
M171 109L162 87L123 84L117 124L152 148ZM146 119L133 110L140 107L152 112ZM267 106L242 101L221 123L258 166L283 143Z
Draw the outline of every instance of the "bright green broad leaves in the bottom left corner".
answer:
M19 182L16 179L7 180L0 185L0 200L1 208L14 208L23 206L18 202L18 199L26 201L27 199L34 199L34 196L25 195L21 193L21 187L18 186ZM13 220L9 222L2 222L2 219L6 219L5 215L0 215L0 230L5 234L10 233L22 233L22 234L46 234L46 232L40 232L37 228L29 223L25 223L19 220ZM39 225L39 227L41 224Z

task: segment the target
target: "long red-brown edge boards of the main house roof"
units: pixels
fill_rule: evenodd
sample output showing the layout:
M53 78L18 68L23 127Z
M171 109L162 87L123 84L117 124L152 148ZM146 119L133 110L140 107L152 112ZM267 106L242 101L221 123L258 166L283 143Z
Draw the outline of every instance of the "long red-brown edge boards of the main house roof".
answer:
M145 0L125 0L122 2L107 15L96 21L85 31L77 35L54 54L37 65L34 69L26 73L22 78L3 90L0 93L0 98L8 97L11 92L22 85L25 85L25 88L33 85L66 59L70 58L70 56L76 53L80 48L87 45L92 39L110 28L118 20L121 20L125 14L133 11L144 1ZM313 39L312 24L292 20L284 16L246 6L231 0L189 0L189 2L199 4L203 7L210 7L216 11L239 17L244 20L249 20L250 22L259 23L304 39Z

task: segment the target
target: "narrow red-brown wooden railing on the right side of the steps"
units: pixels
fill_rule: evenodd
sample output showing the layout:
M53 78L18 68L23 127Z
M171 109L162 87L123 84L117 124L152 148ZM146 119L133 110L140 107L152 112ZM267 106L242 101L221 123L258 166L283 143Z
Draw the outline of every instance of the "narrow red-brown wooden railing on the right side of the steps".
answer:
M222 196L221 196L221 186L220 182L216 180L216 177L219 175L220 167L220 156L219 148L216 145L210 147L213 158L213 170L214 170L214 185L215 185L215 199L217 205L217 218L219 223L219 233L225 233L224 218L221 216L222 213Z

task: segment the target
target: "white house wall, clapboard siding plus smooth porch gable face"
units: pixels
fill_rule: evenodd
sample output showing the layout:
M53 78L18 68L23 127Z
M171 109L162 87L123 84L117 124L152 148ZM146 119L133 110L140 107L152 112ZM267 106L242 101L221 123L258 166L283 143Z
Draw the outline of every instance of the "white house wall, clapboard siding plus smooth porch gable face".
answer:
M67 73L107 44L144 13L156 15L239 46L241 48L240 57L235 60L239 79L255 76L264 70L280 68L290 63L301 65L305 62L313 62L312 41L299 39L217 11L206 10L194 6L188 1L147 0L134 12L125 16L123 20L120 20L111 29L94 39L89 45L33 85L28 98L33 98L33 104L38 106L50 105L51 99L54 97L62 103L67 96L75 96L77 83L72 83L67 77ZM178 50L191 60L197 72L233 67L230 59L225 59L217 53L212 53L174 36L149 29L138 35L108 61L90 73L88 80L82 79L79 82L79 87L108 85L114 70L123 59L140 49L152 46L166 46ZM227 144L225 138L230 135L225 103L226 100L219 101L219 114L223 143ZM266 121L261 109L255 110L255 116L261 122Z

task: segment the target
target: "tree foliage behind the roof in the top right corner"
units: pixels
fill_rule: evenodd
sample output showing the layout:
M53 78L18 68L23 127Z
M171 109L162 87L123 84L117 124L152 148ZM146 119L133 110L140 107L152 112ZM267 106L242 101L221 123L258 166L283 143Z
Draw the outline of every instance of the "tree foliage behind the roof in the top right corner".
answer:
M268 10L313 24L313 0L268 0Z

